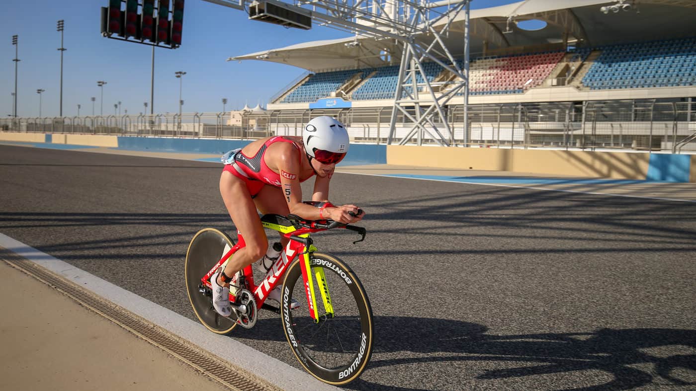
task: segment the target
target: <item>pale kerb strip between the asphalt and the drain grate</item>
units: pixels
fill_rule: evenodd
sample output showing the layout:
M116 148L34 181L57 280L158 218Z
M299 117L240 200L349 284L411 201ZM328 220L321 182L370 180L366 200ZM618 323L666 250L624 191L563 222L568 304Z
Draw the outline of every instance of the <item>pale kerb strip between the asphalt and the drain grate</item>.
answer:
M93 276L67 262L42 253L35 248L0 233L0 246L56 273L80 287L112 301L158 326L192 342L215 356L228 360L238 367L266 379L283 390L338 390L338 388L317 381L310 374L291 367L276 358L252 349L242 342L224 335L211 333L203 325L192 321L159 304L152 303L111 282ZM183 276L182 276L183 278ZM280 327L280 322L278 322ZM235 330L240 331L240 330ZM290 349L290 346L287 346Z

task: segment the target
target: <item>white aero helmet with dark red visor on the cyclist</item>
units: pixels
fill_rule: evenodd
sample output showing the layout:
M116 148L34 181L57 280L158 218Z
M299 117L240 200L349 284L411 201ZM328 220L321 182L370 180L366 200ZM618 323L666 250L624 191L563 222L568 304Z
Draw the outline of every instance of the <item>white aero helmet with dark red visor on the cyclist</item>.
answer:
M345 125L326 115L307 123L302 130L302 141L307 154L324 164L341 161L350 142Z

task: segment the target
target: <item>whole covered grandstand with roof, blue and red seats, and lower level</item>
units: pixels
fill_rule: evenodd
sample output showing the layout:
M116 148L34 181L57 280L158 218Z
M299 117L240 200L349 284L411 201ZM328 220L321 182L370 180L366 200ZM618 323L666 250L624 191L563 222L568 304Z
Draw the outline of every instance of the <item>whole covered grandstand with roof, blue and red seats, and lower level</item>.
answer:
M622 7L603 12L602 7L612 5ZM546 27L528 31L518 25L532 19ZM450 136L460 145L672 150L679 145L696 150L690 143L696 138L695 20L696 1L683 0L525 0L473 10L470 131L464 134L465 97L460 91L448 102L448 120L454 124ZM463 15L454 17L451 29L463 31ZM452 53L463 53L462 41L462 35L450 32L445 45ZM306 51L322 52L323 60L308 62ZM265 121L271 132L296 133L296 124L330 114L347 122L355 139L381 142L388 135L400 55L395 42L358 35L230 59L262 59L310 72L268 105ZM458 65L464 65L461 55ZM425 99L431 96L428 84L437 97L458 81L437 63L423 67L429 83L420 73L417 83ZM414 106L412 113L420 109ZM397 121L399 140L410 120L400 115ZM594 136L588 138L588 133ZM427 134L410 141L432 142Z

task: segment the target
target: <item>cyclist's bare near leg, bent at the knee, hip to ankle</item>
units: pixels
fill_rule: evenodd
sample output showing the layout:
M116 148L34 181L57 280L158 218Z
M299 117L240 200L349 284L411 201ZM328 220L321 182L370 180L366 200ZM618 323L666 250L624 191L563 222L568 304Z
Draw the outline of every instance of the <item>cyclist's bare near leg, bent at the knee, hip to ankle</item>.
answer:
M235 223L237 230L242 232L246 243L246 246L240 248L225 266L225 275L231 277L266 253L268 239L256 211L256 205L243 179L223 171L220 177L220 194L232 222ZM222 281L218 280L218 282Z

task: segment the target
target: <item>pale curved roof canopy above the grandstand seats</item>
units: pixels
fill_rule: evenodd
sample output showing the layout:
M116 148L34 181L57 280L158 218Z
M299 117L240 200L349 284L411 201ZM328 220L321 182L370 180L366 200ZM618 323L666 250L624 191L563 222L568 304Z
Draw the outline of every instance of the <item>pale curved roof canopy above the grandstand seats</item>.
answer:
M454 0L452 0L454 1ZM470 52L482 53L507 47L578 41L578 45L598 47L622 42L642 42L696 35L696 0L626 0L628 11L602 13L612 0L524 0L505 6L470 11ZM443 3L443 2L440 2ZM446 7L446 6L443 6ZM454 16L445 45L454 56L464 55L464 12ZM517 23L541 20L546 27L525 30ZM441 24L447 23L443 20ZM437 25L436 25L437 26ZM506 30L511 33L504 33ZM402 46L393 39L351 36L336 40L304 42L278 49L267 49L228 61L261 60L285 63L312 72L390 65L383 51L398 65Z

